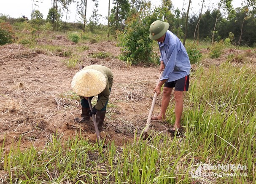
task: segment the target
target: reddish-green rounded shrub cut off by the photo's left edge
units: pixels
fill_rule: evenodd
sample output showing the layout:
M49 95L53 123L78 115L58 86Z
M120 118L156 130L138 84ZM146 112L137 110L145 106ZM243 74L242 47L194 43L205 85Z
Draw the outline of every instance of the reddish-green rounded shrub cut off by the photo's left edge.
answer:
M0 45L13 43L14 33L8 23L0 23Z

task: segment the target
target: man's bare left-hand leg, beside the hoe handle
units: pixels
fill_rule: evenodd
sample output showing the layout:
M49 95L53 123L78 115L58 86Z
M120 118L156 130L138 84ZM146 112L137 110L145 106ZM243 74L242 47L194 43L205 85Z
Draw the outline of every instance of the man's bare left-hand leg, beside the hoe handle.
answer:
M171 93L173 88L163 88L163 99L162 99L162 105L160 109L160 113L158 116L151 117L151 120L165 120L165 113L167 110L167 107L169 106L170 99L171 99Z

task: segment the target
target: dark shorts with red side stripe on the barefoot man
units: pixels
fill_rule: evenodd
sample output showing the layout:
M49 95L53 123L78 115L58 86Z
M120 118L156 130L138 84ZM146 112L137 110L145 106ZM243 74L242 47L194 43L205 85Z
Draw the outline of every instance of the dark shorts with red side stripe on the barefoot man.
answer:
M175 88L175 91L189 91L189 75L172 82L165 82L164 87Z

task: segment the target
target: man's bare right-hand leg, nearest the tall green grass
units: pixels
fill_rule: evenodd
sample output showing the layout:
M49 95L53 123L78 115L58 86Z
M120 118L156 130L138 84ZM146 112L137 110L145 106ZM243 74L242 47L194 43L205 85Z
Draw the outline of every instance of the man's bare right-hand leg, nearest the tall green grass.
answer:
M174 128L181 128L181 115L183 110L183 91L174 91L175 123Z

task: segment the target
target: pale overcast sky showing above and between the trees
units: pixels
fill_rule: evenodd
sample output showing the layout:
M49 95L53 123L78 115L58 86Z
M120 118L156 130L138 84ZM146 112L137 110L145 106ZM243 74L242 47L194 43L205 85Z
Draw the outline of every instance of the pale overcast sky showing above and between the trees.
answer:
M36 1L36 0L35 0ZM46 19L47 14L49 12L49 9L52 7L52 0L39 0L43 1L43 3L39 3L39 7L35 7L33 5L33 9L39 10L41 13L43 13L43 18ZM203 11L206 11L207 9L213 9L214 7L217 7L217 3L219 0L205 0L205 8L203 8ZM32 11L32 2L33 0L0 0L0 13L4 15L9 15L13 18L19 18L22 17L22 15L27 16L30 19L30 13ZM113 8L112 5L113 0L110 0L110 8ZM151 3L153 6L159 6L161 5L162 0L151 0ZM172 3L176 8L179 8L180 10L183 7L184 0L172 0ZM185 5L183 8L187 9L189 0L185 0ZM234 7L240 7L241 6L241 0L233 0L233 6ZM202 6L202 0L191 0L191 11L190 13L198 14L200 11L200 8ZM89 17L92 15L92 9L93 9L93 3L92 0L88 0L88 8L87 8L87 20L89 20ZM98 7L102 17L108 16L108 0L99 0L99 7ZM63 13L64 17L66 17L66 12ZM79 16L75 16L76 14L76 5L73 4L72 7L70 7L70 12L67 17L68 22L74 22L79 19ZM65 18L62 18L63 21L65 21ZM101 19L100 21L102 24L107 24L106 19Z

